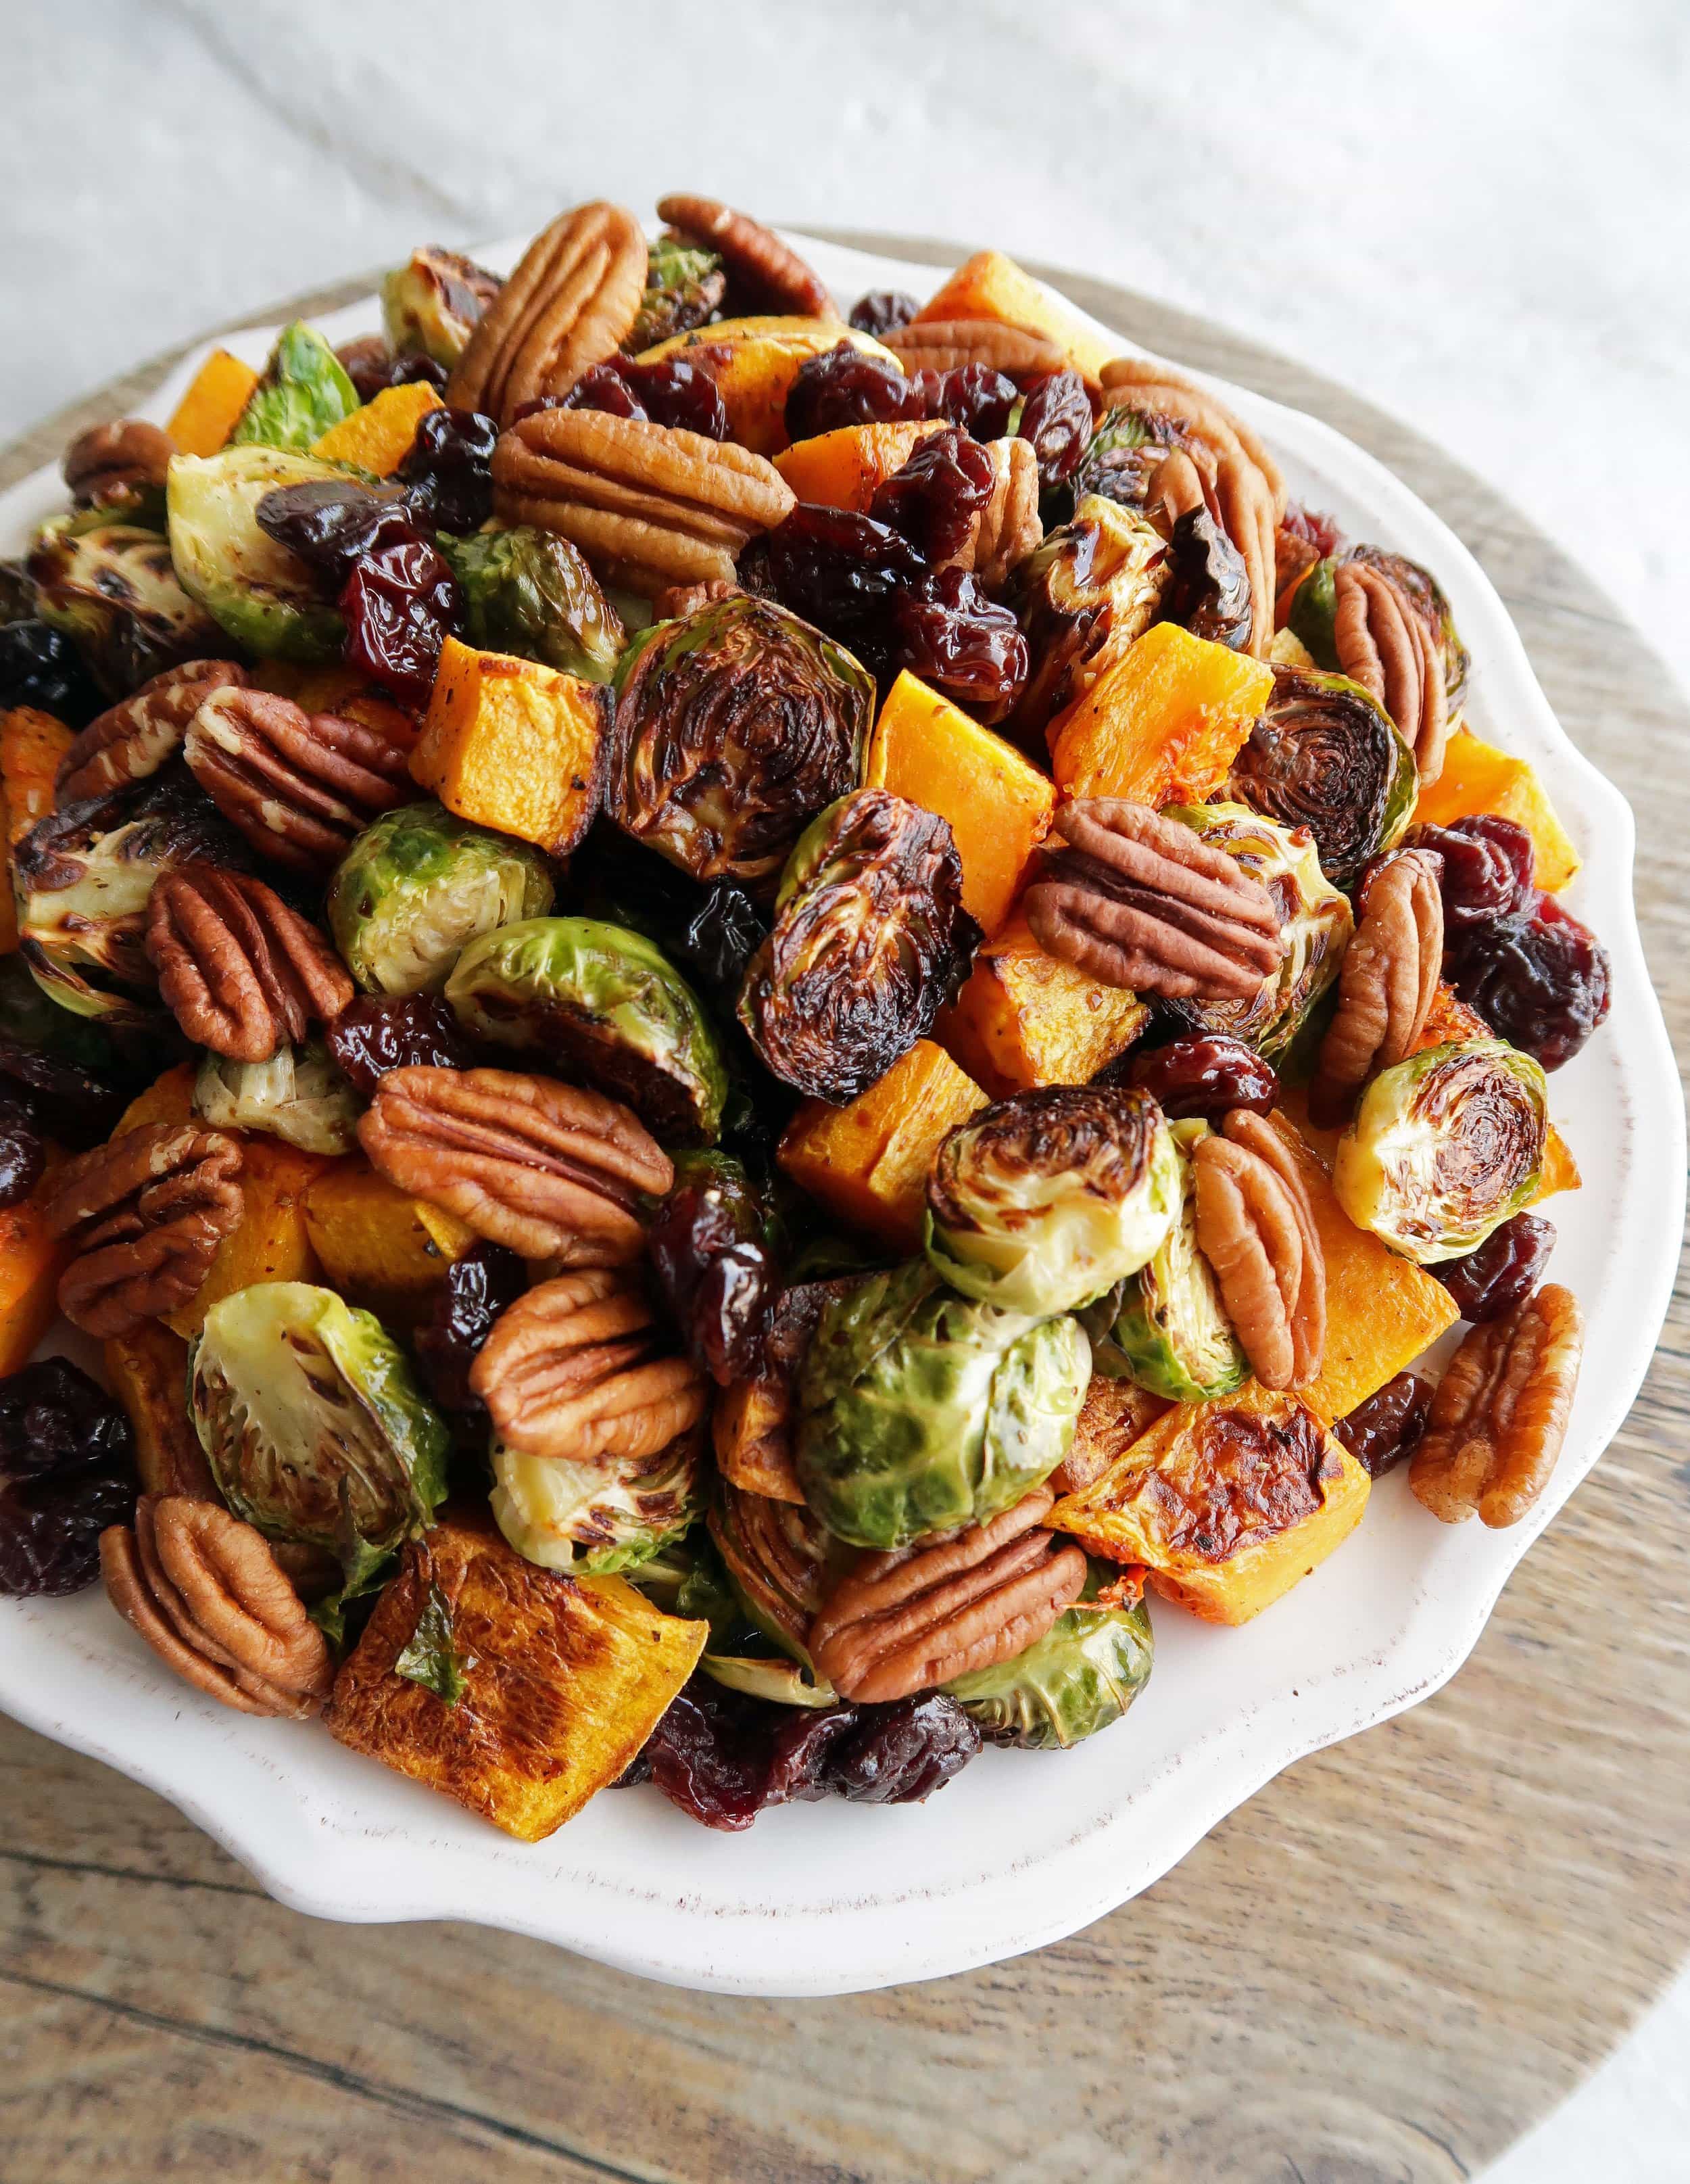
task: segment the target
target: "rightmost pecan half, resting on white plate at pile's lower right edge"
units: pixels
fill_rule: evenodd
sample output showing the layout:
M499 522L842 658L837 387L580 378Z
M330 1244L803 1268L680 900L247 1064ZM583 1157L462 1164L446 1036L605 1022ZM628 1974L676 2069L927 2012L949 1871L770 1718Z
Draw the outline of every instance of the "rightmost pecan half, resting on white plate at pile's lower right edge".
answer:
M1493 1529L1520 1522L1561 1455L1583 1348L1579 1299L1559 1282L1467 1334L1408 1468L1432 1516L1461 1524L1478 1511Z

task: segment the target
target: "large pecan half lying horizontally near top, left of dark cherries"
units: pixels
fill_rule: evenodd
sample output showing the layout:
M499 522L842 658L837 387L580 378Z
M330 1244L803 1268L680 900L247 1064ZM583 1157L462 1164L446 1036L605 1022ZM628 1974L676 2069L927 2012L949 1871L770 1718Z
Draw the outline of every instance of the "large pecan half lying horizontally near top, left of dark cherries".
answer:
M734 561L793 509L773 463L705 439L600 411L539 411L493 448L493 509L572 539L629 590L734 583Z

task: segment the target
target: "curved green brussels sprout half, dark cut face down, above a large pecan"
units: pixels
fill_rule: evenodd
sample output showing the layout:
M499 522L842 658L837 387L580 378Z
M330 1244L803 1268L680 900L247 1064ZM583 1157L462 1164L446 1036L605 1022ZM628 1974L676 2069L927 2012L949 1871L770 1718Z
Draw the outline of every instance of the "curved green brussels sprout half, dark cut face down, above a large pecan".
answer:
M703 1002L644 935L524 917L469 941L445 981L459 1022L627 1101L664 1142L714 1142L727 1064Z

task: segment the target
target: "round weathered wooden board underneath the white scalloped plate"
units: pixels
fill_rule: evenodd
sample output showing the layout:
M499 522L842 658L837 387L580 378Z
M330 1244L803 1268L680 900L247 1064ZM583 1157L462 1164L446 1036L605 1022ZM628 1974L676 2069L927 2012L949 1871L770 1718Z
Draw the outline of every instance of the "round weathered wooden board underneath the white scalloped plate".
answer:
M1330 419L1467 539L1633 802L1644 941L1690 1051L1690 714L1618 609L1393 419L1061 280L1135 341ZM0 485L157 369L41 426ZM1476 2175L1690 1955L1688 1413L1679 1284L1624 1431L1452 1684L1288 1769L1074 1939L886 1994L681 1994L474 1926L321 1924L162 1797L0 1719L0 2180Z

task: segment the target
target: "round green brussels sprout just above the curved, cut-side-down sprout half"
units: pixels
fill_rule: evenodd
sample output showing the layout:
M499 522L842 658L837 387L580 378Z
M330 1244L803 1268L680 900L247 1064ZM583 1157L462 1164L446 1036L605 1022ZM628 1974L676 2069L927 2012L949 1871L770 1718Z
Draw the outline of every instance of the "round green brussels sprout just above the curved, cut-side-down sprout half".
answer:
M469 941L550 906L539 850L439 804L382 812L328 889L334 946L365 994L439 992Z

